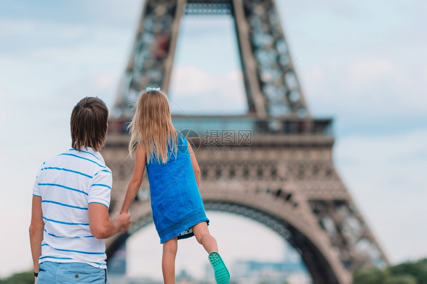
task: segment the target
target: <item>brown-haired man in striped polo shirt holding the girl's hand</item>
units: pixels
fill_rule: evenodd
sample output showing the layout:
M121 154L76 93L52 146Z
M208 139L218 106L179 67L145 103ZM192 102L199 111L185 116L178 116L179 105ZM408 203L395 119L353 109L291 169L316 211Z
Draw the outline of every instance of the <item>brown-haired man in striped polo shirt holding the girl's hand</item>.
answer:
M33 187L30 232L35 282L106 284L105 238L125 232L129 214L109 218L111 170L99 150L108 109L98 98L71 113L71 149L43 163Z

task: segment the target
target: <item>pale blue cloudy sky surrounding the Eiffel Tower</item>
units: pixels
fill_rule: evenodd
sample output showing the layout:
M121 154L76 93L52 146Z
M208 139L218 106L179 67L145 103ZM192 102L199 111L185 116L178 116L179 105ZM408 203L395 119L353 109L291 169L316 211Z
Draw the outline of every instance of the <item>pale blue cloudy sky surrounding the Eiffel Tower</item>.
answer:
M334 118L335 165L356 205L392 263L426 257L427 3L281 0L277 7L311 114ZM7 232L0 251L9 255L0 260L0 277L31 268L27 228L38 167L70 146L70 113L80 98L99 96L113 106L141 8L140 0L0 2L0 213ZM209 17L182 22L169 95L188 114L246 108L228 27L229 20ZM233 221L241 226L233 237L259 231L251 221ZM231 250L225 229L211 226ZM157 242L150 230L142 236ZM261 232L285 251L277 235ZM244 247L226 256L251 257Z

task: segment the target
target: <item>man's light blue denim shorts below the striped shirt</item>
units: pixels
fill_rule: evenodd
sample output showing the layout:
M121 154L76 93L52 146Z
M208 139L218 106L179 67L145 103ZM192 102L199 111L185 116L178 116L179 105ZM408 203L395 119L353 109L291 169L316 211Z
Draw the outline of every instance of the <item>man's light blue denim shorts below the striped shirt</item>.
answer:
M52 262L40 264L37 284L108 284L107 270L83 262Z

